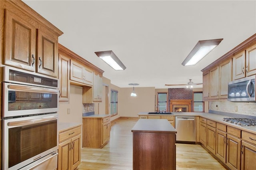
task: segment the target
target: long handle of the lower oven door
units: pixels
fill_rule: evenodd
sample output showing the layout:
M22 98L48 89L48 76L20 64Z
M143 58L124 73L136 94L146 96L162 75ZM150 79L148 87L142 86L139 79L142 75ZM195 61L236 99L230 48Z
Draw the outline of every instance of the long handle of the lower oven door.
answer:
M25 120L25 121L14 121L14 122L8 122L7 126L24 126L24 125L32 125L36 123L42 123L47 121L56 120L58 116L48 116L48 117L42 117L39 119L31 119L31 120Z

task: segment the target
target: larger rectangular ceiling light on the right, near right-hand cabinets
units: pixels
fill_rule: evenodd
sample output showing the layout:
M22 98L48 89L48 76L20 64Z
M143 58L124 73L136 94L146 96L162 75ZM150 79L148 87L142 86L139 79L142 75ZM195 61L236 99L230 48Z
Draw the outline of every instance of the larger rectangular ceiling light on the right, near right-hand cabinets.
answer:
M215 40L202 40L198 41L191 52L188 54L186 59L182 62L182 65L196 65L198 61L200 61L204 56L206 56L210 51L212 51L219 43L223 40L215 39Z

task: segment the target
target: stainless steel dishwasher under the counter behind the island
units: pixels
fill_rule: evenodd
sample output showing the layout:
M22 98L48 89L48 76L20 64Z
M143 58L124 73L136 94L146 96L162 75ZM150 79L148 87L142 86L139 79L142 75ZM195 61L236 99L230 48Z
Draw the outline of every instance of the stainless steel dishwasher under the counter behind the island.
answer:
M176 141L196 142L196 124L193 116L176 116Z

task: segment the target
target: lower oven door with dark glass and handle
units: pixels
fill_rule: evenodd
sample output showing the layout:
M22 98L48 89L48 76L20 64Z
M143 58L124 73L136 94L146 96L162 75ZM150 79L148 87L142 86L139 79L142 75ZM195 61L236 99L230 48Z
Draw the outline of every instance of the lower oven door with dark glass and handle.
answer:
M57 150L57 117L55 113L3 120L4 161L8 160L4 169L18 169Z

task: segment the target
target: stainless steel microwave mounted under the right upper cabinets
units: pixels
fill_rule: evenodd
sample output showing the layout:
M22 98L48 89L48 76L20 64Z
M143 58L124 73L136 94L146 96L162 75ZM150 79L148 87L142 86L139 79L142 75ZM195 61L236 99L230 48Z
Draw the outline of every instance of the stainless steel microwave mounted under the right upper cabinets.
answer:
M234 80L228 83L228 101L256 101L256 75Z

